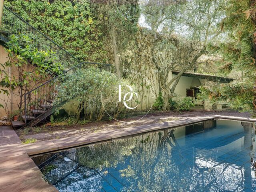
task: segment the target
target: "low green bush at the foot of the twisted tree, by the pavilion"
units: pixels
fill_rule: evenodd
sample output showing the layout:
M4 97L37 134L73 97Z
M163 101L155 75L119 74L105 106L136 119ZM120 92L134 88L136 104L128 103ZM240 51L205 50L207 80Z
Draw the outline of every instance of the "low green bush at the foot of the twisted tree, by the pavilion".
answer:
M170 109L178 111L190 111L190 107L194 106L189 97L176 97L176 99L169 99Z

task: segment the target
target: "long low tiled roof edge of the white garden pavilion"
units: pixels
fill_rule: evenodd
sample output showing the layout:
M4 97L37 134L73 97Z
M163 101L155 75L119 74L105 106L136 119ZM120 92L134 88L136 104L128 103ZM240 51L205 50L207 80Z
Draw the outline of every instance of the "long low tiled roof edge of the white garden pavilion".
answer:
M177 75L178 73L179 73L179 71L172 71L172 74L174 74L174 75ZM223 77L223 76L193 73L193 72L184 72L182 74L182 76L207 79L209 81L220 82L220 83L229 83L229 82L235 80L234 78L231 78L231 77Z

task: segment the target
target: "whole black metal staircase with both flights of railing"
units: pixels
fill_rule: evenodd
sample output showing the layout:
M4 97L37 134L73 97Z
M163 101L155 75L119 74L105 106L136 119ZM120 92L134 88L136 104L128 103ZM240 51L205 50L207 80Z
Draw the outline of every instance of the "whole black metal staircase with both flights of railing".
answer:
M53 50L56 53L57 62L60 62L64 68L62 74L24 94L23 121L12 122L14 128L34 126L56 111L58 107L54 103L58 93L56 85L65 80L66 74L72 74L76 70L88 67L96 67L100 68L100 70L110 69L110 64L80 62L80 60L64 50L64 48L60 47L48 36L34 28L18 16L18 14L12 12L10 8L4 6L0 28L0 43L4 45L8 41L8 36L12 34L26 34L32 39L34 48L40 51Z

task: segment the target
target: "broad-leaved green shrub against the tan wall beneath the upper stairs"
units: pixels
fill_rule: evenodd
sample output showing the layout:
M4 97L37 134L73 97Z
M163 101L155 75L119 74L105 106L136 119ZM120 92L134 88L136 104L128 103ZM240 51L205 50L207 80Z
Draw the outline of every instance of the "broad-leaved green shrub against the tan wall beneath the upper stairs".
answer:
M33 40L25 35L10 35L6 43L8 61L0 63L0 93L6 94L7 98L1 97L0 107L8 109L7 101L10 95L15 95L18 108L22 109L24 94L39 86L53 76L62 73L63 66L56 60L56 53L51 51L39 51L33 46ZM12 68L10 76L9 68ZM16 89L17 94L10 94Z

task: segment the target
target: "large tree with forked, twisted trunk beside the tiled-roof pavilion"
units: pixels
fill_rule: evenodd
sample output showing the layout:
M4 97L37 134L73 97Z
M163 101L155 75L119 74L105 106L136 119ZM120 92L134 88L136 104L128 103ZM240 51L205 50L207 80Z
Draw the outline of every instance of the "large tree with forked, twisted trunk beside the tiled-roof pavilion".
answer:
M154 33L152 62L158 71L164 108L175 96L175 88L182 76L192 70L200 57L206 54L220 34L218 22L222 16L223 0L144 0L142 12L145 22ZM170 71L178 70L168 78Z

